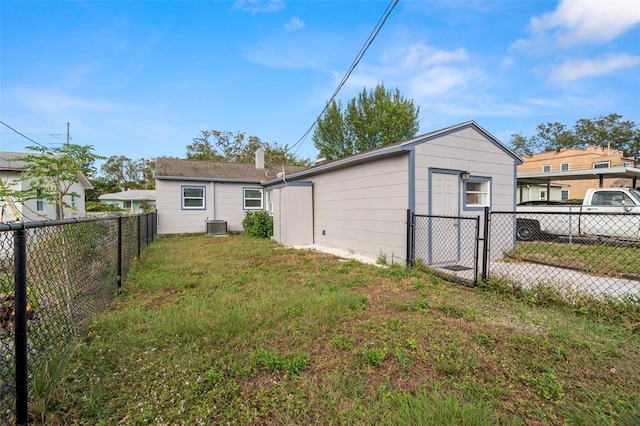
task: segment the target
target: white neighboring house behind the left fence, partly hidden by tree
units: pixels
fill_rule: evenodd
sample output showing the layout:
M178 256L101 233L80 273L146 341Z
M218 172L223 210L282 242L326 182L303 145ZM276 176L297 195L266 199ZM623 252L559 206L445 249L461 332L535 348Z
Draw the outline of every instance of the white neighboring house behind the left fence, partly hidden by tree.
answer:
M20 181L20 174L24 163L17 161L17 158L31 155L27 152L0 151L0 185L9 190L23 190L29 187L28 181ZM78 173L77 181L73 183L69 193L77 195L67 195L64 201L71 206L64 211L65 219L85 217L85 190L92 189L93 186L87 177ZM19 203L11 197L0 199L0 222L20 220L24 222L34 222L40 220L55 220L56 206L45 199L27 200Z

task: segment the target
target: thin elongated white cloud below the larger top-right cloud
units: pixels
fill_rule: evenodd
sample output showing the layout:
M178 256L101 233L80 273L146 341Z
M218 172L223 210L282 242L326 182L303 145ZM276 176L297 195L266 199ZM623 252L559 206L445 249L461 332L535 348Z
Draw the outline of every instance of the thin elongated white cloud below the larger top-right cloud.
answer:
M567 61L555 67L551 79L558 82L578 80L584 77L606 75L623 68L640 65L640 56L626 53L607 55L596 59Z

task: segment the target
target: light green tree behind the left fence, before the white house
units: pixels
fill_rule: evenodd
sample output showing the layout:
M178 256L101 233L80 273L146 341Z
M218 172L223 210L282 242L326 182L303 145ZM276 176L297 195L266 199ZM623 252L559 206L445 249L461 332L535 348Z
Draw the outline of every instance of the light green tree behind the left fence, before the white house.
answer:
M93 153L91 145L64 144L47 148L28 146L34 154L17 158L24 162L20 181L28 182L29 187L14 191L12 196L20 201L45 199L56 206L57 219L64 219L64 209L71 208L64 197L79 196L71 192L79 175L91 175L93 164L104 157Z

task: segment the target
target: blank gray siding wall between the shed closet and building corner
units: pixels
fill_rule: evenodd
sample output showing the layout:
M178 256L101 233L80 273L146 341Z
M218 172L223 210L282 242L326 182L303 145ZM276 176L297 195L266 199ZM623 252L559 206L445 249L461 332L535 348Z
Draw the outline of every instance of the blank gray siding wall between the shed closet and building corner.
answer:
M404 262L407 164L405 154L315 176L314 243Z

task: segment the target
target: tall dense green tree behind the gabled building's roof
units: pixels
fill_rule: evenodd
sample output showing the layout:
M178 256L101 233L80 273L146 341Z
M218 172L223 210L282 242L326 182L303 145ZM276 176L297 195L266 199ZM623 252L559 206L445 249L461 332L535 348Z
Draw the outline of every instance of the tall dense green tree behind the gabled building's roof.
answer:
M420 107L405 99L397 88L384 84L351 99L343 110L333 101L318 119L313 144L327 160L346 157L416 135Z

